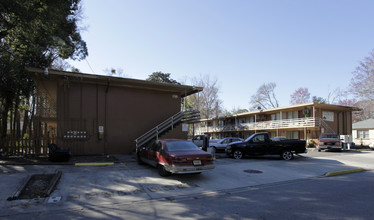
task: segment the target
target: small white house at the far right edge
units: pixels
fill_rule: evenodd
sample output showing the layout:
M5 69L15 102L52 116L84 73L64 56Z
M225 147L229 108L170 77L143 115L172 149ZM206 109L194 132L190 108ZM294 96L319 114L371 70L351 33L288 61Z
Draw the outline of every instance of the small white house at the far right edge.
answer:
M352 137L356 145L365 145L374 148L374 119L370 118L353 123Z

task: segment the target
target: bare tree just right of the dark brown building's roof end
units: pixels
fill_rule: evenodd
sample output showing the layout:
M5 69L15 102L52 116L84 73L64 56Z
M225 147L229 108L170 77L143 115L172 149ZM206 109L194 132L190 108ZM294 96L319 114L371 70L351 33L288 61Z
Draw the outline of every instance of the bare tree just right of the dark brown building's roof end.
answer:
M219 86L217 78L209 75L193 78L193 85L203 87L204 90L187 97L187 108L200 111L202 118L219 117L222 114L222 100L219 98Z

